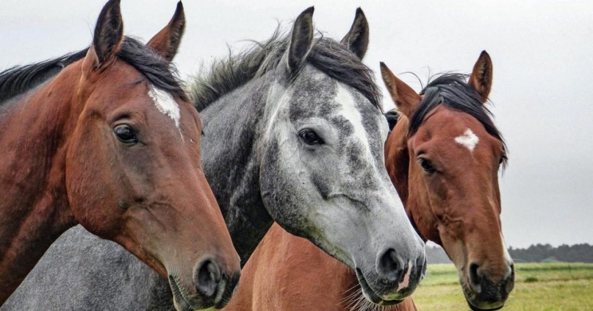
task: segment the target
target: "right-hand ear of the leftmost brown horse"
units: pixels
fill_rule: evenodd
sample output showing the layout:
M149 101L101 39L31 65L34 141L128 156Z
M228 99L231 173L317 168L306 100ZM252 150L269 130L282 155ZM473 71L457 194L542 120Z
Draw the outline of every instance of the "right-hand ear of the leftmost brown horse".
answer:
M162 28L151 40L146 43L147 46L157 51L167 62L171 62L173 57L177 54L177 49L181 44L181 37L185 31L185 13L183 12L183 4L181 1L177 2L177 9L171 21Z

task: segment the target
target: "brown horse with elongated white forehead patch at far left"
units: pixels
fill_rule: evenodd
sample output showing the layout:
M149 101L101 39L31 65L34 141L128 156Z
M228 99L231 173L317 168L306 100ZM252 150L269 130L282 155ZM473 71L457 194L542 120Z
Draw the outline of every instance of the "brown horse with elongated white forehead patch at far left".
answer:
M145 46L111 0L92 46L49 81L35 85L51 61L0 73L0 304L76 223L168 278L178 310L228 301L239 258L170 66L184 25L178 4Z

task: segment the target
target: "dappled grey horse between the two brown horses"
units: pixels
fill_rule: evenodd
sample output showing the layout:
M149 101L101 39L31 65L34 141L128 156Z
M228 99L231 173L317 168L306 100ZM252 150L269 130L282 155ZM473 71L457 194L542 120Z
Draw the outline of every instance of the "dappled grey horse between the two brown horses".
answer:
M426 259L385 170L380 89L357 56L366 52L366 20L358 10L344 44L315 36L313 11L290 33L276 31L193 81L206 178L243 263L275 221L357 271L376 302L398 302L419 283ZM166 299L142 300L165 296L158 280L147 281L150 271L113 243L76 249L80 235L71 230L55 243L44 267L68 268L31 272L14 309L48 300L60 309L167 309ZM107 256L117 259L101 263Z

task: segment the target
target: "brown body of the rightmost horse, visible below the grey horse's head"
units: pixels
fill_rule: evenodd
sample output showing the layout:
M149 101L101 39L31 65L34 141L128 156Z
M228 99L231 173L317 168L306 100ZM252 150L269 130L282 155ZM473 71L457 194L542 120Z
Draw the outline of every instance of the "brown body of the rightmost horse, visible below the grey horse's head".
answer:
M346 296L360 291L352 269L277 223L270 227L241 273L239 289L225 311L349 310L352 300ZM416 306L408 298L386 310L411 311Z

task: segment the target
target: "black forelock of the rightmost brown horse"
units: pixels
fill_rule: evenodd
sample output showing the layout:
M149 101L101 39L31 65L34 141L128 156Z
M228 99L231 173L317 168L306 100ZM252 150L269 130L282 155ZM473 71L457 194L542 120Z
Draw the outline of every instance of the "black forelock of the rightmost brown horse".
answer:
M506 148L502 134L492 121L492 112L482 103L480 95L467 84L468 75L461 73L443 73L431 79L420 95L424 95L416 111L410 118L409 135L416 133L426 115L438 105L445 105L452 110L461 111L476 118L490 135L502 142ZM503 158L506 163L506 156Z

